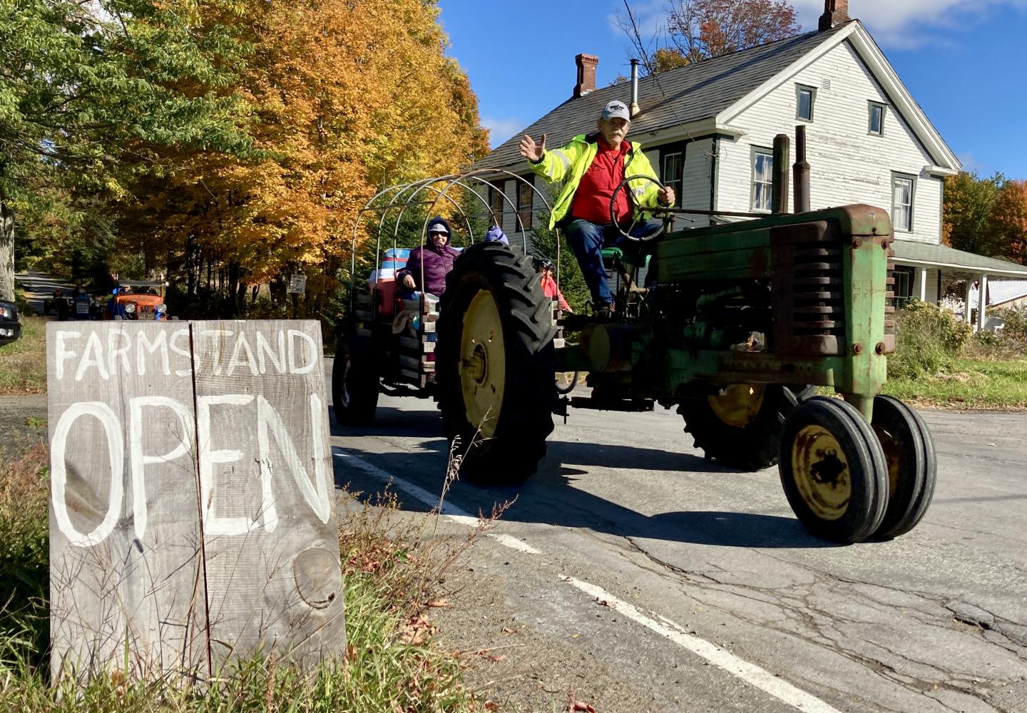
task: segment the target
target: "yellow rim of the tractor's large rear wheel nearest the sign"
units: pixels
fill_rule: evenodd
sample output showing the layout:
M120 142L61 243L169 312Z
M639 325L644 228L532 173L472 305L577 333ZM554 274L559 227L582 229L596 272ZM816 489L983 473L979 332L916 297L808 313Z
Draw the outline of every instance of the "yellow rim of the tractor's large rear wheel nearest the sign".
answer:
M492 438L499 421L506 384L506 350L499 308L482 290L467 306L460 333L460 389L467 423Z

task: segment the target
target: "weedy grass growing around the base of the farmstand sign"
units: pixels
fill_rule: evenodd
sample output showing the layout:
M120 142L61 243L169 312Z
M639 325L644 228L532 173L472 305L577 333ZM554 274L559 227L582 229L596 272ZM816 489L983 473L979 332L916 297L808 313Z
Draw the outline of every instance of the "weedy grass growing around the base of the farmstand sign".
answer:
M462 684L460 661L433 643L425 615L445 570L491 521L453 541L435 535L436 515L403 517L387 492L364 501L346 493L339 509L347 646L336 661L306 673L273 659L248 661L194 687L125 680L118 672L86 685L49 685L47 459L43 443L0 451L0 710L496 710Z

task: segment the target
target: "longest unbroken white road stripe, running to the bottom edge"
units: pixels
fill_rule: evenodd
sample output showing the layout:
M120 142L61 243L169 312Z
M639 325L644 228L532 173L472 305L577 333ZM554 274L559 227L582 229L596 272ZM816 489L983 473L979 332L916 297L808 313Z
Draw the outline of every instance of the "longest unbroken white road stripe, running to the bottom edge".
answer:
M811 713L840 713L838 709L832 708L819 698L807 693L801 688L797 688L783 678L774 676L769 671L765 671L755 664L743 661L730 651L719 648L706 639L684 633L676 624L672 628L646 616L635 608L635 606L617 599L602 587L589 585L587 581L581 581L572 576L564 576L563 579L581 590L589 597L595 597L600 601L612 604L613 608L624 616L638 622L643 627L656 632L660 636L667 637L679 646L688 649L697 656L706 659L714 666L723 669L733 676L737 676L760 690L770 693L770 696L773 696L783 703L787 703L789 706ZM669 620L663 621L667 622Z

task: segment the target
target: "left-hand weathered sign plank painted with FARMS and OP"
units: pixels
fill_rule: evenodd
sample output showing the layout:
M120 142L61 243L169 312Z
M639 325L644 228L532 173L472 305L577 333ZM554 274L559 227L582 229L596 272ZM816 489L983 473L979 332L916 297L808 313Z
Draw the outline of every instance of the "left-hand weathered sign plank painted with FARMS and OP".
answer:
M51 323L46 361L53 676L205 669L188 325Z

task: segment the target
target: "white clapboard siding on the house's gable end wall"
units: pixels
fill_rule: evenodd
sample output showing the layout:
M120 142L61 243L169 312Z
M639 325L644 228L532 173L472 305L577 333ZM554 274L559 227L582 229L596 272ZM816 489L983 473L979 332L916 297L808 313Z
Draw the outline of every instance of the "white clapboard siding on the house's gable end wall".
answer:
M827 88L825 80L830 80ZM845 41L784 81L729 123L746 132L737 140L720 140L717 160L717 207L752 208L752 147L769 149L776 134L792 138L795 161L796 84L816 88L813 120L806 123L806 160L809 162L813 210L864 202L891 211L891 174L916 177L913 231L897 232L904 239L938 242L941 235L942 181L924 173L933 159L874 80L851 45ZM868 133L868 102L887 105L883 136ZM791 179L790 179L791 180ZM792 205L791 185L789 210Z

